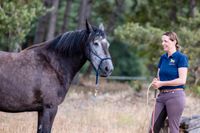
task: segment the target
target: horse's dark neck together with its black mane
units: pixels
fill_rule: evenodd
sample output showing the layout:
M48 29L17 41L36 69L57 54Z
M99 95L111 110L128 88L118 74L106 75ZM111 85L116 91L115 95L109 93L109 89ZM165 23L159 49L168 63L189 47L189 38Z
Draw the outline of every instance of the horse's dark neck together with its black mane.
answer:
M83 48L87 39L88 34L82 30L65 33L44 45L43 50L51 60L51 65L58 73L61 73L60 76L64 78L66 83L71 83L75 74L86 62Z

